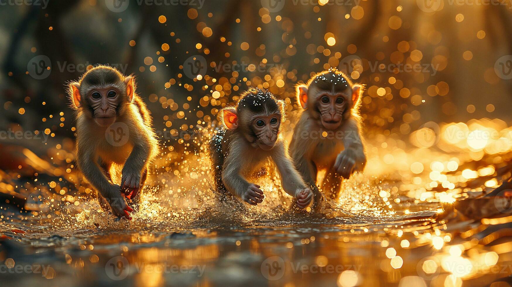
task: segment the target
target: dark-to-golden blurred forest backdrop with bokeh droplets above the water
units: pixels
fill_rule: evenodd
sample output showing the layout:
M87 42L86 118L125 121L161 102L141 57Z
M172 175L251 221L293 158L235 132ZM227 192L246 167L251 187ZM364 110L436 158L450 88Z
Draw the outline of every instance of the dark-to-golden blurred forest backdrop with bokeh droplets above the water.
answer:
M507 0L5 0L0 38L0 129L58 141L73 138L66 83L97 64L135 74L157 130L176 138L248 86L293 115L294 85L330 67L367 85L365 127L384 135L512 121Z

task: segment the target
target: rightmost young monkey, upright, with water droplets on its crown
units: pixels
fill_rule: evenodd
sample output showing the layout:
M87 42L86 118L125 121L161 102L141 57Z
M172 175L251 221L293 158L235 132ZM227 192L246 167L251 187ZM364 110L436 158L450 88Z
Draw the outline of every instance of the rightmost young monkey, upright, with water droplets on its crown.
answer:
M335 199L342 179L366 165L359 116L363 89L337 70L317 73L306 85L297 86L303 112L293 130L290 152L295 168L315 190L315 197L319 195L318 171L326 171L322 192Z

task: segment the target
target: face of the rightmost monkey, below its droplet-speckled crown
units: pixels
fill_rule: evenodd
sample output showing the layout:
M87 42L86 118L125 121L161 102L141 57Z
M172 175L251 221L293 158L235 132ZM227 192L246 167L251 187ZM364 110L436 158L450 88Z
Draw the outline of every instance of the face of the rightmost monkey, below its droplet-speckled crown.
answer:
M348 107L347 96L342 93L322 91L319 93L315 107L319 121L327 130L336 130L342 124L343 114Z

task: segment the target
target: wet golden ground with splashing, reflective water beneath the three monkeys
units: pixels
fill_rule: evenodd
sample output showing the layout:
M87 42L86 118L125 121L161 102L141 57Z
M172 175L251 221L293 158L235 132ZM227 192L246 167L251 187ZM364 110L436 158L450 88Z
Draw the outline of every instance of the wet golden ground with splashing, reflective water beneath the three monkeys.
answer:
M1 285L512 285L512 140L456 141L451 127L435 147L414 133L415 145L369 139L365 173L309 213L272 176L263 206L219 206L196 152L159 162L134 220L115 221L72 149L49 163L12 148L30 165L1 173Z

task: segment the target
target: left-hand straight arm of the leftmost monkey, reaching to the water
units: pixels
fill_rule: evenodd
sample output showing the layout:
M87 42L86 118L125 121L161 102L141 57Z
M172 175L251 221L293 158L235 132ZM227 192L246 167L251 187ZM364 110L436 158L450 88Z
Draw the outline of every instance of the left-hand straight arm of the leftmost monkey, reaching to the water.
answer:
M95 145L80 144L78 140L78 167L83 176L91 183L91 185L103 196L110 204L112 213L116 216L124 216L131 219L126 211L133 211L126 205L124 198L121 196L119 186L114 185L101 171L97 158L94 153Z

